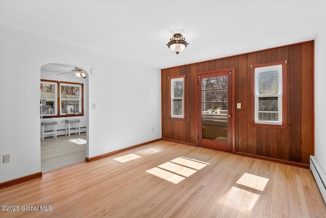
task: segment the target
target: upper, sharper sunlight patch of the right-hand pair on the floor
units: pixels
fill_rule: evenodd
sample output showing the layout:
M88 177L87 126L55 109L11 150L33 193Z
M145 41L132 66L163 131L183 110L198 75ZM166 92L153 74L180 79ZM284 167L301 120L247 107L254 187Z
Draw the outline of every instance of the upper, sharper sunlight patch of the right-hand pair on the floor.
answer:
M267 178L244 173L236 183L239 185L263 191L267 185L267 182Z

